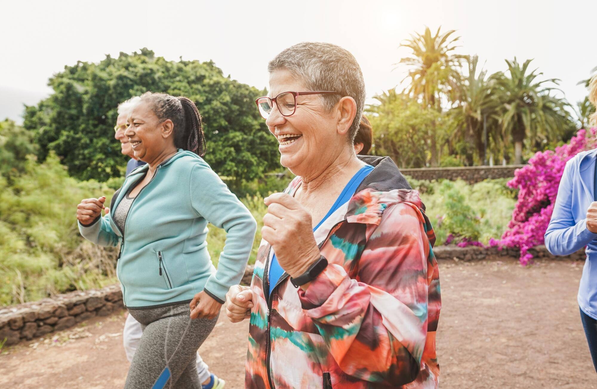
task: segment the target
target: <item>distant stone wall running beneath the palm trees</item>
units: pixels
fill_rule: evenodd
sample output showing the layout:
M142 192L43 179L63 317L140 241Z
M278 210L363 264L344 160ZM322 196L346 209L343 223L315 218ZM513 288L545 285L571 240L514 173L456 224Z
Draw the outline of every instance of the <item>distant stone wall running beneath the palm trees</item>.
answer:
M417 180L436 180L458 178L468 182L481 182L484 179L514 177L514 171L524 165L509 166L471 166L471 167L424 167L421 169L400 169L402 174Z

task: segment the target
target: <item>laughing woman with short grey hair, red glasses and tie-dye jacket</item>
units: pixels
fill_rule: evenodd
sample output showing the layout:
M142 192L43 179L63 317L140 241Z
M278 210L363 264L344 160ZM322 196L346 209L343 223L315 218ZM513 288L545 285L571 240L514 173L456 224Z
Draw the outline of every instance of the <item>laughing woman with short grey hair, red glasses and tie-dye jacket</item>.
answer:
M269 73L257 106L297 177L265 199L251 287L226 295L250 317L245 387L437 387L435 235L393 161L355 154L358 63L305 42Z

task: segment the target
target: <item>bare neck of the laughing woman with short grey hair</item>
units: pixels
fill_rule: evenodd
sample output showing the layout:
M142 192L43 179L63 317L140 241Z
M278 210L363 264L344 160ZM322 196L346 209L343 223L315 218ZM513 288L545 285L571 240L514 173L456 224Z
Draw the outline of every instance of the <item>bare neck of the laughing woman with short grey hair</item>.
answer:
M353 149L345 150L330 163L301 176L300 191L310 197L325 188L334 188L346 183L363 166L365 163L356 157Z

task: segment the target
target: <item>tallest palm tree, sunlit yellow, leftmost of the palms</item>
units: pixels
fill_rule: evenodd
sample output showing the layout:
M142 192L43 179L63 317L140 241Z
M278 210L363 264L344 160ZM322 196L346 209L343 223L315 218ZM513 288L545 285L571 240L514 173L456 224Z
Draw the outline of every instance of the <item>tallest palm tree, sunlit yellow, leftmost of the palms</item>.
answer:
M459 77L457 68L463 58L453 53L459 36L453 37L456 30L440 33L441 26L432 35L429 27L424 33L411 34L411 39L401 43L401 47L411 49L411 56L402 58L396 65L406 65L409 71L405 79L410 78L408 93L419 99L424 108L441 111L442 96L450 94ZM404 81L404 80L403 80ZM435 128L430 139L430 163L438 166L438 147Z

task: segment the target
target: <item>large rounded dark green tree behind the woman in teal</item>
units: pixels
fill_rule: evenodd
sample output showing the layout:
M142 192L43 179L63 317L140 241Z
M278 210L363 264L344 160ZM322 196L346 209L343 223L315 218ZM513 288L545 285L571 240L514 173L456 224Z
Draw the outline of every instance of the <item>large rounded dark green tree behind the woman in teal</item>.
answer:
M205 122L205 160L217 173L250 180L278 167L277 142L253 103L264 91L224 76L211 61L167 61L143 48L65 66L48 85L54 93L26 107L24 127L35 132L42 161L54 151L79 179L121 176L125 158L112 136L116 107L146 91L195 101Z

